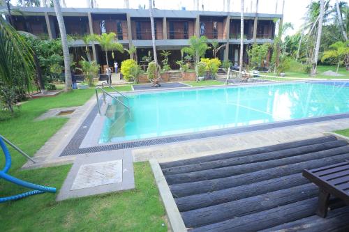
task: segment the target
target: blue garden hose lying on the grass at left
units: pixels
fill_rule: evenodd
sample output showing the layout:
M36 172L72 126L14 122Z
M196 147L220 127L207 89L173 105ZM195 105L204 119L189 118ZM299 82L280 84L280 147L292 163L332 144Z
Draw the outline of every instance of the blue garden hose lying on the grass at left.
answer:
M7 172L11 167L11 155L10 155L10 151L6 147L6 144L3 142L3 139L1 139L1 137L0 137L0 146L1 146L1 149L3 150L3 154L5 155L5 167L0 171L0 178L3 178L4 180L8 180L12 183L15 183L16 185L27 187L27 188L30 188L33 190L33 191L29 191L29 192L24 192L22 194L17 194L14 196L0 197L0 203L6 202L6 201L13 201L13 200L17 200L17 199L22 199L22 198L27 197L27 196L31 196L31 195L35 195L35 194L42 194L45 192L56 192L56 188L54 188L54 187L46 187L46 186L42 186L42 185L36 185L36 184L29 183L27 181L20 180L20 179L13 177L13 176L8 175Z

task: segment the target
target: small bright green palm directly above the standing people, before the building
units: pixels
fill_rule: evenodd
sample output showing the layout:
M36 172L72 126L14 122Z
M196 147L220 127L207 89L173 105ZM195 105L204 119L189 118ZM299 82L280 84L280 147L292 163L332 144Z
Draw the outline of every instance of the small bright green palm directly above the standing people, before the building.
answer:
M114 53L114 50L117 50L124 53L124 47L119 42L114 41L116 36L117 35L114 32L102 33L101 35L91 34L87 36L88 42L98 42L105 51L105 61L107 62L107 67L109 67L109 60L107 56L108 51L112 51Z

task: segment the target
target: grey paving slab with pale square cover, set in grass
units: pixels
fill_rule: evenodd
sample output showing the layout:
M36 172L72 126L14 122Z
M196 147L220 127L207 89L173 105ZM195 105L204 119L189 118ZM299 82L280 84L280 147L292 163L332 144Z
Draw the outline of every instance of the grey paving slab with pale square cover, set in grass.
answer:
M110 150L77 155L57 201L131 190L135 187L133 159L129 150Z

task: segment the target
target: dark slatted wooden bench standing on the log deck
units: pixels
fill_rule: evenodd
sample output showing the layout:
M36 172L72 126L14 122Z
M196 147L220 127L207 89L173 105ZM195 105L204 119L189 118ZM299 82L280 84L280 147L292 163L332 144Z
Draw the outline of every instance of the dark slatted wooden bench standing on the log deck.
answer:
M318 169L304 169L303 176L319 187L319 201L316 214L326 217L329 196L342 199L349 206L349 161Z

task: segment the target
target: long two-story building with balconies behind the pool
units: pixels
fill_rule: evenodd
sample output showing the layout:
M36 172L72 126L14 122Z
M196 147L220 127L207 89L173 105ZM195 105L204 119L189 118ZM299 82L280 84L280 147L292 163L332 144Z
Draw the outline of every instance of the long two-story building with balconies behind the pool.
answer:
M18 31L27 31L36 36L59 38L59 26L54 8L20 8L22 14L13 15L14 26ZM85 44L81 39L90 33L116 33L117 42L125 48L137 47L138 61L147 56L152 49L151 24L149 10L144 9L105 9L105 8L62 8L66 32L70 38L70 53L74 59L86 55ZM244 60L247 61L246 47L253 42L272 43L275 35L275 22L282 15L264 13L244 13ZM181 59L180 49L188 46L191 36L207 36L209 42L216 40L225 45L218 58L239 61L240 47L240 13L193 10L158 10L154 9L156 47L171 50L170 65ZM89 44L91 59L105 65L105 52L98 43ZM121 63L128 59L128 54L115 53L112 59L108 52L110 64ZM159 60L161 61L161 56ZM207 51L211 56L211 51Z

